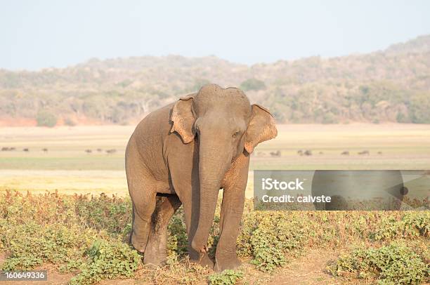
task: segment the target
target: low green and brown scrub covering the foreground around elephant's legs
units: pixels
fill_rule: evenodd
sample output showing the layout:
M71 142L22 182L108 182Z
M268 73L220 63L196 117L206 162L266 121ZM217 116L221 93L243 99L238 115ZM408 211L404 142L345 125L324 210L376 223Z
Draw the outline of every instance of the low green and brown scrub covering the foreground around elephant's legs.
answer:
M208 241L211 256L218 242L219 220L218 206ZM306 248L345 250L350 244L366 244L377 249L352 251L332 265L332 272L349 272L356 277L374 274L381 282L399 279L419 283L428 277L429 269L422 263L428 265L430 261L429 227L427 211L254 211L249 200L237 238L237 253L256 269L271 272ZM0 251L8 252L1 265L5 270L30 270L52 263L61 272L80 270L73 279L75 284L90 284L104 276L128 277L141 260L125 242L130 230L129 198L105 194L0 194ZM188 237L182 207L171 219L168 230L169 261L165 272L147 270L143 278L157 284L207 279L207 269L186 261ZM402 240L408 241L409 247L389 244ZM405 268L410 274L393 275ZM234 274L229 274L214 274L209 281L222 284L216 282L230 280Z

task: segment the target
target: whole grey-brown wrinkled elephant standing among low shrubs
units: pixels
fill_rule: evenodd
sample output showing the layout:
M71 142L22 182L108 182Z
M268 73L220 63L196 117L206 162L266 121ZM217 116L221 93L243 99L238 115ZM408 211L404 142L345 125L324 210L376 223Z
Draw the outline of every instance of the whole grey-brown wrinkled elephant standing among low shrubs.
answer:
M144 263L167 258L167 225L183 204L190 259L214 270L240 265L236 239L245 202L249 156L277 135L268 110L237 88L210 84L143 119L126 147L133 201L131 244ZM215 263L207 239L223 189Z

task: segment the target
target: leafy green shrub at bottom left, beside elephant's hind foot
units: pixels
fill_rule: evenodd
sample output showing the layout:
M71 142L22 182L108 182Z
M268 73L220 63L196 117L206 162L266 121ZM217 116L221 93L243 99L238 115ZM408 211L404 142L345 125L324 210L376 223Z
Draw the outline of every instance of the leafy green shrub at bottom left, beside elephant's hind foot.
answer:
M70 284L93 284L102 279L131 277L141 259L136 250L120 241L100 239L86 252L89 260L81 267L82 272L70 280Z

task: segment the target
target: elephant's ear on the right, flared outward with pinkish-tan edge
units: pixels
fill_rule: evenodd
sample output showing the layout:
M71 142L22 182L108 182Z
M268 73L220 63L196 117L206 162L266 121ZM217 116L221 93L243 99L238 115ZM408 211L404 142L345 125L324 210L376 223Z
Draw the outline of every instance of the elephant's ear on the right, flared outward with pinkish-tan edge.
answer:
M272 114L265 107L252 105L251 120L245 133L245 150L251 154L256 145L271 140L276 135L278 130Z

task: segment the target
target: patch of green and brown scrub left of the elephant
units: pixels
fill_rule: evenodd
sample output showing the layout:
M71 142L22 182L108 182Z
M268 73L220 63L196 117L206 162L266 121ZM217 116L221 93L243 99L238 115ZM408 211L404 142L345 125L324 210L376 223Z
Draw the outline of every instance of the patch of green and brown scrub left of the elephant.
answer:
M82 270L74 284L129 277L136 270L137 251L110 241L130 230L129 199L104 194L91 198L56 193L0 195L0 244L11 253L2 269L30 270L53 263L61 272Z

